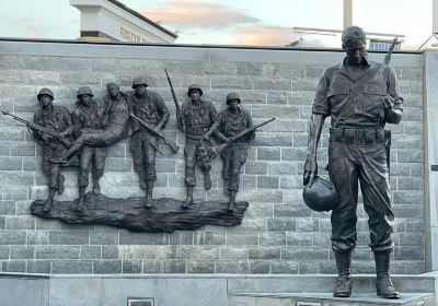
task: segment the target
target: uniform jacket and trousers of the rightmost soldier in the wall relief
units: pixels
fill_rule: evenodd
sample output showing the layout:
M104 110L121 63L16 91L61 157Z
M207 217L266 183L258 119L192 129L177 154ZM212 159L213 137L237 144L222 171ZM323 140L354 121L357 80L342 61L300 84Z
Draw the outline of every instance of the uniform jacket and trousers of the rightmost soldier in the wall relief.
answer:
M218 132L227 138L232 138L241 131L252 127L250 114L239 108L235 113L229 108L223 109L218 116ZM223 169L222 175L228 191L239 191L240 169L246 162L247 148L254 133L249 133L227 146L221 153Z

